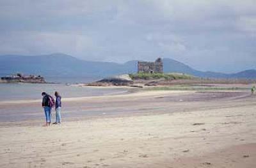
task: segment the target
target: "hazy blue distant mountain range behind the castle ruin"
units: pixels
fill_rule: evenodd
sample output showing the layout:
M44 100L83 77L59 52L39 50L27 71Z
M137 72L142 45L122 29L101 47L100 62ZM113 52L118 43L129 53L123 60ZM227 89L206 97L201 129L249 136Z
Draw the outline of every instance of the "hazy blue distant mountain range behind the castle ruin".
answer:
M173 59L163 59L164 72L187 73L202 78L246 78L256 79L256 70L250 69L239 73L203 72ZM14 73L40 74L56 77L105 77L115 74L135 73L137 60L117 64L114 62L93 62L76 59L70 55L54 53L51 55L1 55L0 76Z

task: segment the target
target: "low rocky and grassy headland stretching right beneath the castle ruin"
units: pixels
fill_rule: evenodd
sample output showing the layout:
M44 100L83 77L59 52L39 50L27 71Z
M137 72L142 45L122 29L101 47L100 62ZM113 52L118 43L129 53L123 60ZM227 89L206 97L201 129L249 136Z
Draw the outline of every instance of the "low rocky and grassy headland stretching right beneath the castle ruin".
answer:
M104 78L79 87L135 87L143 90L248 90L256 80L198 78L184 73L136 73ZM238 85L234 87L232 85ZM229 87L221 88L221 85Z

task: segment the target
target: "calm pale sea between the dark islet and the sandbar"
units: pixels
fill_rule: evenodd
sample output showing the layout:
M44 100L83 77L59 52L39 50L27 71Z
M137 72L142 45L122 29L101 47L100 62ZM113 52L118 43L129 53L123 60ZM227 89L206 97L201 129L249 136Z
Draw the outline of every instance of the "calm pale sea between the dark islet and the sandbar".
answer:
M55 81L50 81L67 83L0 83L0 101L42 99L42 92L47 92L48 94L54 95L55 91L60 92L62 97L88 97L97 95L122 94L127 92L127 89L125 88L75 87L68 84L76 82L88 82L92 81L92 79L54 79Z

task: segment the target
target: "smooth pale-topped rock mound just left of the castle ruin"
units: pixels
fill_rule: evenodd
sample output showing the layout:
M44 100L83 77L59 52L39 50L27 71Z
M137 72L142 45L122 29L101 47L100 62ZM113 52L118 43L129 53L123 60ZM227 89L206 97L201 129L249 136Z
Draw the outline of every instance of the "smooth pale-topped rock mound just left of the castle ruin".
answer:
M97 86L97 87L129 86L129 85L133 85L133 81L131 80L128 74L122 74L118 76L104 78L103 80L88 83L86 85Z

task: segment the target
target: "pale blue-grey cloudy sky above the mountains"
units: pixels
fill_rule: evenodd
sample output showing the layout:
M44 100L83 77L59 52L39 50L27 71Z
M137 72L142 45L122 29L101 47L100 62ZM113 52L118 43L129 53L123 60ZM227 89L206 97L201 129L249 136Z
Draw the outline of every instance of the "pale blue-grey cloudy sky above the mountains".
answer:
M0 0L0 54L256 69L255 0Z

